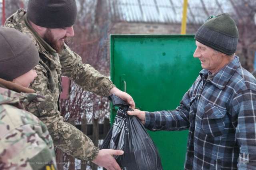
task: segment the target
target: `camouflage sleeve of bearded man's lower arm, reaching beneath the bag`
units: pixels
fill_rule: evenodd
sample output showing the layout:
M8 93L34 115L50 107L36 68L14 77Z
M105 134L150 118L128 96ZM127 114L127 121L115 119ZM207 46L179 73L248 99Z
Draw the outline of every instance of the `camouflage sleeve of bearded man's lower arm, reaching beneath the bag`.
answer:
M36 115L46 124L54 145L64 152L82 160L94 160L98 154L98 148L88 136L83 134L76 127L63 121L63 117L58 111L58 105L54 94L48 87L48 78L43 66L38 64L36 67L38 76L30 85L38 94L46 97L45 102L31 103L27 110ZM58 90L58 88L55 88Z

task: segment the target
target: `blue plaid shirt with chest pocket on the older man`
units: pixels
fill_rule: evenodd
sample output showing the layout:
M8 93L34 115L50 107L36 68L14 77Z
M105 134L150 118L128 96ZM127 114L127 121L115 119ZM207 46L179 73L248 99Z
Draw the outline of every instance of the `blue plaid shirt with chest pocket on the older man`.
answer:
M173 111L146 112L150 130L189 129L185 169L256 169L256 79L236 56L203 69Z

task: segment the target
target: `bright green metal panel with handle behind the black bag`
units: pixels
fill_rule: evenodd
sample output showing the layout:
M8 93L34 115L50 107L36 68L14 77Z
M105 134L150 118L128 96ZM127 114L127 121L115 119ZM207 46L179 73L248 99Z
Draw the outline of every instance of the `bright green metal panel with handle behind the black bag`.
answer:
M142 111L173 110L202 69L193 35L111 35L110 76ZM117 108L111 109L111 123ZM182 170L188 130L149 131L164 170Z

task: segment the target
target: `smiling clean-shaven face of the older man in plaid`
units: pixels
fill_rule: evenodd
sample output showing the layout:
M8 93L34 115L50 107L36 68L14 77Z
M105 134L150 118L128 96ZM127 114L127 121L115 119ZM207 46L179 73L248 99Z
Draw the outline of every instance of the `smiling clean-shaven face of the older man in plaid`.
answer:
M233 59L233 57L215 51L211 47L208 47L198 41L196 41L196 46L193 56L201 61L203 69L206 69L213 74L217 73Z

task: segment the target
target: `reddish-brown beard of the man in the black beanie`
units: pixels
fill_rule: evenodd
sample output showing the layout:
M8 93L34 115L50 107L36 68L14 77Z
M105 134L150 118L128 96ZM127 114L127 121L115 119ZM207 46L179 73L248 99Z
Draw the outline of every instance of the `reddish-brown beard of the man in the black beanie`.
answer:
M66 40L66 36L63 37ZM55 40L54 36L49 28L47 28L46 33L44 34L44 41L48 43L53 49L57 51L57 53L60 53L64 49L64 42L60 40Z

